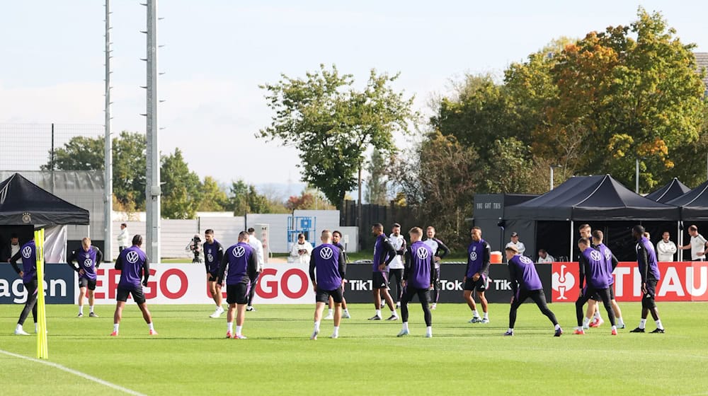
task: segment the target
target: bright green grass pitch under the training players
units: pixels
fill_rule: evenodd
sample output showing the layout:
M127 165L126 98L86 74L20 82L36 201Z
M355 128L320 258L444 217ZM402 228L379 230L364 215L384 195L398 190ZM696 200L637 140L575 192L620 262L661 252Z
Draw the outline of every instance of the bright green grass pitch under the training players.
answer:
M101 318L81 319L72 305L49 305L47 323L50 361L147 395L708 395L707 303L660 303L666 334L630 334L640 307L623 303L627 329L617 337L607 323L573 335L574 306L550 306L563 337L552 337L531 304L519 310L515 337L501 336L508 304L491 305L489 325L468 324L466 305L438 305L432 339L423 337L418 303L403 338L400 321L366 320L370 304L350 307L339 339L329 339L331 321L323 321L316 342L308 339L314 304L257 306L246 315L246 340L224 339L225 315L207 318L209 305L150 306L155 337L135 305L124 311L120 337L108 337L108 305L97 306ZM20 311L0 305L0 349L34 357L35 337L11 334ZM5 354L0 367L3 395L120 394Z

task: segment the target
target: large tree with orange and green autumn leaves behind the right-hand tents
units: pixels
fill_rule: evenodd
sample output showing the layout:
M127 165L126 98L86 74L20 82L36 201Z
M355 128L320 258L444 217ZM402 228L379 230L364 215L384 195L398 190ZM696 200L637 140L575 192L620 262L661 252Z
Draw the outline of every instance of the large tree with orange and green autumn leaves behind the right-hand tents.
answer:
M673 177L681 148L694 144L704 111L702 74L695 45L685 45L660 13L639 8L629 26L591 32L566 46L552 74L559 98L535 135L548 136L549 156L561 157L560 139L589 147L573 159L581 173L612 173L634 182L641 160L641 187ZM636 37L636 39L634 38Z

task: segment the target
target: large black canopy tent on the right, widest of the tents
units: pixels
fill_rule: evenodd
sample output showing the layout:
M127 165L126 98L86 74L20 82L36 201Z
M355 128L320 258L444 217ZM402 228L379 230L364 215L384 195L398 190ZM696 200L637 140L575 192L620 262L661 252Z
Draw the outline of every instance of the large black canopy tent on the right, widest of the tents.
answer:
M610 234L618 234L617 245L610 248L617 257L631 257L627 246L631 246L628 228L639 221L653 221L654 228L664 229L678 226L679 209L676 206L654 202L641 197L624 187L610 175L576 176L535 199L509 206L505 219L510 227L532 221L533 238L527 240L527 251L533 252L536 245L549 252L569 252L566 260L572 260L575 248L576 222L588 222L595 229L603 229ZM570 238L557 238L570 227ZM532 245L531 243L534 243ZM549 249L552 247L553 250ZM627 250L627 252L625 252ZM556 257L557 258L557 257Z

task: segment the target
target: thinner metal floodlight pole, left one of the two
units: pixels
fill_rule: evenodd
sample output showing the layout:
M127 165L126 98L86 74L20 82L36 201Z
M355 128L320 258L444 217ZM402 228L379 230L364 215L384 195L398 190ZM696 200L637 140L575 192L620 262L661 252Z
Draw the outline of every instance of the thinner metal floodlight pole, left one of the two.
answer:
M111 260L113 239L113 141L110 138L110 0L105 0L105 101L103 104L104 155L103 155L103 261ZM91 235L86 235L91 236Z

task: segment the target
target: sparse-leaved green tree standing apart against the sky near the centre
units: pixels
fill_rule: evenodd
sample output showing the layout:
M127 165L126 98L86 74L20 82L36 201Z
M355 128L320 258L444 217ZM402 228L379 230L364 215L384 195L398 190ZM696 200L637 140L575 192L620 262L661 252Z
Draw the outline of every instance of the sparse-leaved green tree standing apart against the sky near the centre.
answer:
M346 192L358 180L361 187L367 148L395 151L392 133L406 132L409 122L416 122L413 98L391 87L398 76L372 70L358 91L353 76L339 74L336 66L320 65L305 79L283 74L278 83L261 86L275 115L257 136L297 148L304 182L342 209Z

